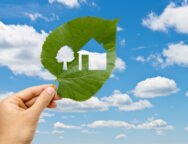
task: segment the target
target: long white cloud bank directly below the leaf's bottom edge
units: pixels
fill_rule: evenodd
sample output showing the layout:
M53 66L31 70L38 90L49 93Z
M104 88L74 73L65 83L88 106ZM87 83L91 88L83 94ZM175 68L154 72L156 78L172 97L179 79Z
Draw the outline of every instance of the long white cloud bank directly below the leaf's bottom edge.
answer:
M76 102L71 99L62 99L57 101L57 108L53 111L59 112L89 112L89 111L106 111L110 107L117 107L121 111L135 111L151 108L152 104L147 100L139 100L134 102L129 95L115 90L112 96L91 97L84 102Z

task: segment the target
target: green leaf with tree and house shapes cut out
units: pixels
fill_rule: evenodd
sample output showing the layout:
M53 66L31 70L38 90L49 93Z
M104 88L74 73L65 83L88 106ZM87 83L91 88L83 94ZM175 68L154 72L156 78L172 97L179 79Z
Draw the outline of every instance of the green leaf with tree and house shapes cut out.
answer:
M109 78L116 59L116 26L119 19L105 20L97 17L76 18L49 34L42 47L41 62L59 82L57 93L60 97L84 101L95 95ZM82 70L78 69L78 51L94 38L107 51L106 70L88 70L88 58L82 59ZM74 60L63 70L56 55L63 46L74 51Z

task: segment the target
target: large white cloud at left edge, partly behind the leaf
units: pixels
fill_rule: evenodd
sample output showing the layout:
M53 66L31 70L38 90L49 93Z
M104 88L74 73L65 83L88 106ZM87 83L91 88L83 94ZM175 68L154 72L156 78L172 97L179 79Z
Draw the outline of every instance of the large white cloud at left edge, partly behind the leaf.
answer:
M47 35L44 31L37 32L31 26L0 22L0 66L7 66L17 75L54 80L55 77L43 70L40 63L42 44Z

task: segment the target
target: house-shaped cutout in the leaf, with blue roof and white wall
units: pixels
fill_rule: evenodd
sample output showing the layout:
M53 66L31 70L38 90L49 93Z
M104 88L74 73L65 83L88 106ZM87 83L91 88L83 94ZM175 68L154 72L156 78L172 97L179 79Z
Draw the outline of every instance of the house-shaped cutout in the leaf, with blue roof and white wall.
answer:
M89 51L84 50L89 48ZM95 52L92 52L95 50ZM97 51L97 52L96 52ZM83 69L83 58L88 56L88 70L106 70L107 69L107 53L103 48L102 44L100 45L95 39L91 39L83 48L78 52L79 58L79 67L81 71Z

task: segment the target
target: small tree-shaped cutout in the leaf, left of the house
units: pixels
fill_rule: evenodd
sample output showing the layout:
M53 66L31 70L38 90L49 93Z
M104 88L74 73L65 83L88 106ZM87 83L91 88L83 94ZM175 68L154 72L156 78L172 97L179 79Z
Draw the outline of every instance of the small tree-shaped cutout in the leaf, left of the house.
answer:
M64 62L63 70L67 70L67 62L74 60L74 52L72 48L67 45L60 48L57 53L56 59L58 63Z

